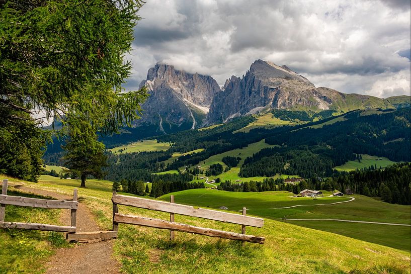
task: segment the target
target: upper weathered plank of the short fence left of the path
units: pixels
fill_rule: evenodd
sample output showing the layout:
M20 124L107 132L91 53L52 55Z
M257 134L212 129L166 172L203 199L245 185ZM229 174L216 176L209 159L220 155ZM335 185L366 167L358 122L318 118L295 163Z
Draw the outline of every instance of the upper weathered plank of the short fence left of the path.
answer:
M60 201L60 200L45 200L37 198L27 198L21 196L0 195L0 204L35 207L35 208L65 208L77 209L78 202L75 201Z

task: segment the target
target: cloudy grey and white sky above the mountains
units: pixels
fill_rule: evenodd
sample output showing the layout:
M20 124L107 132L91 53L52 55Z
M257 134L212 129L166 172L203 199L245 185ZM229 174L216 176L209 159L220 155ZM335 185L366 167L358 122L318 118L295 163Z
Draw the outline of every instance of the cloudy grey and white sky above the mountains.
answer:
M409 0L147 0L139 16L126 90L138 88L156 62L223 85L262 59L317 87L410 95Z

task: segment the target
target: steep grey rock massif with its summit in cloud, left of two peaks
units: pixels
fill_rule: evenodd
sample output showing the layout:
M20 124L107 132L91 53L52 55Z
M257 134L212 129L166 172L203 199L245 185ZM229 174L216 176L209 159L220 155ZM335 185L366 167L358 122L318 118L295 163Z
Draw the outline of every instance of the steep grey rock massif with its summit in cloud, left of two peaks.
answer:
M158 134L202 126L212 98L220 92L210 76L161 63L148 70L143 85L147 85L150 97L141 106L142 117L134 126L157 126Z

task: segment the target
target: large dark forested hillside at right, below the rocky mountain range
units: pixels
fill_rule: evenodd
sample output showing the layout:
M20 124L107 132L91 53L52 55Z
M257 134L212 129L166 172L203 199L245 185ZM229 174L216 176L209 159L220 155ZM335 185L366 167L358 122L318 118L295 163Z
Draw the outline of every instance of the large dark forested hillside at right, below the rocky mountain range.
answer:
M358 159L359 154L411 161L409 108L366 116L354 111L344 118L348 120L322 128L305 125L297 131L267 137L266 143L280 147L265 148L246 158L240 176L281 173L325 177L333 174L335 166Z

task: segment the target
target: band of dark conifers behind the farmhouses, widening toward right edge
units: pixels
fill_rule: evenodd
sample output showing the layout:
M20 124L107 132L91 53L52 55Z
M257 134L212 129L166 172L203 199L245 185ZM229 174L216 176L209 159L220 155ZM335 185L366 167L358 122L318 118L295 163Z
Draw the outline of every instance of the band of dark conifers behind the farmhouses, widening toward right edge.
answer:
M297 184L285 184L284 179L266 178L263 181L248 181L237 184L224 181L219 190L233 192L289 191L299 194L301 190L345 190L350 188L355 194L380 197L392 204L411 205L411 163L398 163L384 169L369 168L350 172L335 171L331 177L321 180L317 177L304 179Z

